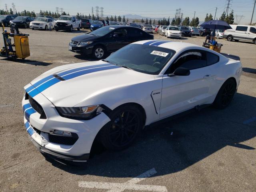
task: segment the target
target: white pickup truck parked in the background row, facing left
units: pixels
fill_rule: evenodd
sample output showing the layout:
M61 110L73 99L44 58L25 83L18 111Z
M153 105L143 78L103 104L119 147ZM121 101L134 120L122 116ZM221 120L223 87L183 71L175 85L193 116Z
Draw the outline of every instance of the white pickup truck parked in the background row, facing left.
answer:
M54 24L54 28L56 31L58 30L68 30L70 32L73 31L73 29L80 30L81 27L81 20L77 20L76 16L68 16L68 15L62 15L58 20L56 20Z

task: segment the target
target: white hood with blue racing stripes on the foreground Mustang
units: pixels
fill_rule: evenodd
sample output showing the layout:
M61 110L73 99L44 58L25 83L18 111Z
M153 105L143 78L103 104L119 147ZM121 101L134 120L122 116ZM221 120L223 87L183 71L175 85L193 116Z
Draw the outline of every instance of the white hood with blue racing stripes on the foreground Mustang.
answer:
M55 106L73 107L109 90L150 80L154 75L100 60L53 68L30 82L25 90L32 97L43 94Z

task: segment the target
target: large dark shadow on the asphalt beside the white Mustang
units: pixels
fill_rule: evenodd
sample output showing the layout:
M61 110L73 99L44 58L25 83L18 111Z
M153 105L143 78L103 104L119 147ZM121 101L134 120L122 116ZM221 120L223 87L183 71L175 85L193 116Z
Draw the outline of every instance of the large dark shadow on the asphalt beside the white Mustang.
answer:
M236 94L224 110L208 107L148 128L130 148L121 152L102 150L94 154L85 167L50 162L72 174L115 178L135 177L152 168L158 172L154 176L178 172L226 146L255 150L240 144L256 136L256 122L243 124L256 113L251 107L255 105L256 98Z

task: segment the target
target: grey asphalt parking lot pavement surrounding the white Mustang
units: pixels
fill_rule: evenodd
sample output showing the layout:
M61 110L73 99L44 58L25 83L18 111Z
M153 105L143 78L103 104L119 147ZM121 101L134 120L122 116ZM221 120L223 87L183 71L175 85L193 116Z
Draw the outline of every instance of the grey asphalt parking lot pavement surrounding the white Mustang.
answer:
M243 65L228 108L208 107L147 128L126 150L98 147L84 166L70 166L36 150L21 101L23 87L43 72L93 60L68 51L71 38L86 30L20 31L30 35L31 56L15 62L0 58L0 191L256 191L255 44L218 40L222 52L240 56ZM167 38L155 34L154 39ZM171 40L202 45L204 37Z

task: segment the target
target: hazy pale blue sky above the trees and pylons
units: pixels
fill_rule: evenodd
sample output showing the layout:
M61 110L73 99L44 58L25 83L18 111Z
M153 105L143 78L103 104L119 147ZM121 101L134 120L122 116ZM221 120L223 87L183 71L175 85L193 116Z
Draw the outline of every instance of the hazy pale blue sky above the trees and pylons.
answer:
M141 15L143 18L174 18L176 9L181 8L183 18L189 17L190 20L195 16L200 21L204 21L206 13L215 15L219 18L225 10L226 0L0 0L0 8L5 10L12 8L12 3L15 4L16 10L22 11L24 9L39 13L41 10L55 11L56 7L63 8L65 12L70 15L76 15L77 12L88 15L92 13L92 7L95 6L104 8L104 16L124 14ZM230 10L234 10L234 22L240 20L240 24L250 23L252 17L252 10L254 0L231 0ZM237 17L236 17L237 15ZM237 18L237 20L236 20ZM256 22L256 9L254 10L254 17L252 22Z

